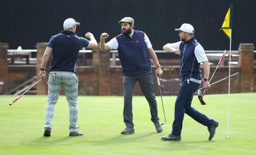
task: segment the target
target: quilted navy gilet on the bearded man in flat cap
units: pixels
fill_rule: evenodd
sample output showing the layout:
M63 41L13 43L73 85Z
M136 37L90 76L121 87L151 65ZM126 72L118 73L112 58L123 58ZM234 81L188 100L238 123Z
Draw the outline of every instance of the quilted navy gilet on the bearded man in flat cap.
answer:
M134 30L132 38L123 34L116 36L118 56L124 76L136 76L151 71L150 56L144 36L144 32L138 30Z

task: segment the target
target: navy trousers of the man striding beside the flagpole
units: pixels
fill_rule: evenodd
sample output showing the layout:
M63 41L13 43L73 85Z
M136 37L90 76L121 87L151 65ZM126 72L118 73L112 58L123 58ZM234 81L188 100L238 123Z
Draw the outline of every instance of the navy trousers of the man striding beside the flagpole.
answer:
M191 107L193 93L199 87L199 83L190 81L187 82L187 79L184 79L182 82L182 87L178 93L178 97L175 103L175 113L174 113L174 123L172 124L172 134L180 136L182 132L182 122L184 119L184 113L192 117L195 121L201 125L212 125L213 119L209 119L207 116L203 115L193 107Z

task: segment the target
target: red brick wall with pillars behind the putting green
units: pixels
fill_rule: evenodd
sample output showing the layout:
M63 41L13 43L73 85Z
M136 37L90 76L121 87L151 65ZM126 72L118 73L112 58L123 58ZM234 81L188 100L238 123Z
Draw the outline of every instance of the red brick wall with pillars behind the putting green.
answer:
M0 44L7 47L7 44ZM5 72L1 74L0 81L4 80L6 89L9 90L19 83L23 83L27 79L39 74L39 67L41 65L41 58L47 44L37 44L38 63L35 66L8 66L1 65L0 69ZM2 50L3 49L3 50ZM239 47L240 57L239 66L231 67L231 74L240 72L237 76L231 77L231 93L244 93L256 91L256 68L253 67L253 44L241 44ZM5 48L0 46L1 61L4 59L3 52ZM7 50L7 48L6 48ZM5 51L6 52L6 51ZM5 57L6 58L6 57ZM246 61L246 62L245 62ZM250 61L252 61L250 63ZM4 67L5 66L5 67ZM102 52L99 49L92 53L92 66L78 66L76 72L79 75L79 95L123 95L122 89L122 68L118 66L110 66L110 54ZM49 66L47 67L49 68ZM210 75L213 74L216 66L211 66ZM164 74L163 79L180 79L180 66L163 66ZM152 68L155 72L155 68ZM217 81L229 74L228 66L220 66L215 73L212 81ZM39 77L38 77L39 78ZM156 95L160 95L159 87L156 82L156 76L153 74L154 91ZM1 91L0 91L1 92ZM228 92L228 79L221 81L211 87L207 94L227 93ZM3 93L3 91L2 91ZM47 78L43 79L37 85L38 94L47 94ZM61 91L64 94L64 91ZM138 83L134 89L134 95L143 95Z

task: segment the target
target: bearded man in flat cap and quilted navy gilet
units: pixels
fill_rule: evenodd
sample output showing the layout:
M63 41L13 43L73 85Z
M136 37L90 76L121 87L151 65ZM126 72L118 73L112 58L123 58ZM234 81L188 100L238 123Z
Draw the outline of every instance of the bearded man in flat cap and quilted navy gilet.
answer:
M152 70L150 57L156 65L156 74L162 76L162 70L158 63L158 57L152 48L152 44L148 36L138 30L134 30L134 19L124 17L118 22L121 25L122 34L112 38L105 44L108 38L107 33L100 36L100 50L118 50L118 56L122 64L124 74L124 123L126 129L121 134L133 134L134 123L132 115L132 95L136 81L140 83L140 88L150 105L151 121L154 123L157 132L162 132L158 117L158 107L156 97L154 95L154 87L152 82Z

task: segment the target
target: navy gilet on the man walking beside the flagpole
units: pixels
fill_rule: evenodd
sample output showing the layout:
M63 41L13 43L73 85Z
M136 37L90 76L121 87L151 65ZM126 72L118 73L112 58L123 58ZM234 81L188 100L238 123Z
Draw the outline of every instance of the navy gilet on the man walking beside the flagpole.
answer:
M197 62L195 57L195 46L199 45L199 42L195 38L191 38L186 42L180 44L181 51L181 68L180 74L182 81L186 78L194 78L201 80L201 67L200 63Z

